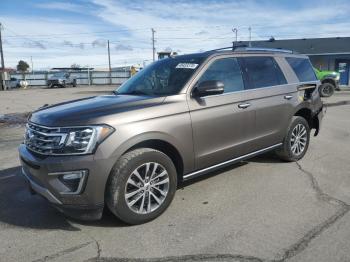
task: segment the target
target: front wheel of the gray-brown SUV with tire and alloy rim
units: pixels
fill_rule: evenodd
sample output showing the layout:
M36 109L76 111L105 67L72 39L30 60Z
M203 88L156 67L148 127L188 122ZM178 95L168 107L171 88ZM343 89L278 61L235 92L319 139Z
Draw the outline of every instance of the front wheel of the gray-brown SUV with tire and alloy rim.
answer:
M148 164L147 181L145 174ZM150 179L152 177L153 180ZM171 159L158 150L140 148L124 154L116 162L107 182L106 204L123 222L142 224L155 219L167 209L176 187L177 173Z

